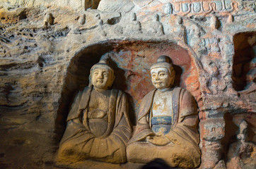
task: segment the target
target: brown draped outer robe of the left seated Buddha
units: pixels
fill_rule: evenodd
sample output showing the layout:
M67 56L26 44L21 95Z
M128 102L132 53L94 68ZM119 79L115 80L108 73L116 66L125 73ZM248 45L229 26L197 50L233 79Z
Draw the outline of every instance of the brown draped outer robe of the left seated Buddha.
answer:
M100 137L90 131L88 109L93 87L78 92L67 118L66 131L57 154L59 162L84 161L92 158L110 163L124 163L126 145L132 130L128 116L125 94L117 89L110 92L107 112L107 129ZM84 125L83 125L84 124Z

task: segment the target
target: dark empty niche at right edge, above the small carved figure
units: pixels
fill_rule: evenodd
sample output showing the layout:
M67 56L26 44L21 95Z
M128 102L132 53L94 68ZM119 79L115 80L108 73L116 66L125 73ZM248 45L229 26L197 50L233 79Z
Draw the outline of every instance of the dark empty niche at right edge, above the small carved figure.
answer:
M255 37L256 32L239 33L233 37L233 88L240 92L255 88ZM254 86L254 87L253 87Z

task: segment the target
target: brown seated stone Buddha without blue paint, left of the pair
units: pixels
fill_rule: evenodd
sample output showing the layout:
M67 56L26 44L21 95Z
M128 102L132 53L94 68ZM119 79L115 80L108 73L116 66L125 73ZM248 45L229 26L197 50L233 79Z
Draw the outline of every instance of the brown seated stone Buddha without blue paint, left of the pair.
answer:
M127 161L125 149L132 134L128 102L124 92L109 89L114 79L106 61L93 65L91 85L78 92L69 111L57 162Z

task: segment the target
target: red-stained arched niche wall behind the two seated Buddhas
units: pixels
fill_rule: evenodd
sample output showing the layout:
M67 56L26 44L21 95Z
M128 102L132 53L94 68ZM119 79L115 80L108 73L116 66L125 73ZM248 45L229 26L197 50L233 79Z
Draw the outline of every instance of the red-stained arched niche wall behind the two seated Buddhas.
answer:
M189 52L176 42L122 41L112 40L92 44L78 51L67 68L62 98L59 102L55 129L57 139L61 139L66 125L66 117L79 89L88 86L90 69L107 55L110 66L115 70L113 88L121 89L129 101L129 117L136 125L136 115L141 99L154 89L151 84L150 67L158 56L169 56L175 68L175 86L192 93L197 101L201 99L198 73Z

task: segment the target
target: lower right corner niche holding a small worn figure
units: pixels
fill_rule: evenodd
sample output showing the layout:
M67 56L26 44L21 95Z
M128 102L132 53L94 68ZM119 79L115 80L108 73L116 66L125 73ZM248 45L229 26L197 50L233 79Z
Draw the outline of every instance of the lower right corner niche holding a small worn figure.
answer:
M223 158L227 168L255 168L255 113L243 111L224 115Z

